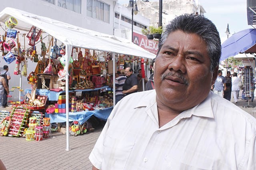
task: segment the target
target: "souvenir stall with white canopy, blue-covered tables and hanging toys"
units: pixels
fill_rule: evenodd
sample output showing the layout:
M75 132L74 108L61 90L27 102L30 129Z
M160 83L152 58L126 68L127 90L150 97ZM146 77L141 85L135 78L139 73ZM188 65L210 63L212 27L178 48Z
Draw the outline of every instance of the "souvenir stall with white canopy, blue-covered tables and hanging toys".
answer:
M95 111L95 107L107 106L109 109L111 105L109 98L104 98L100 92L101 89L106 89L108 82L111 81L109 78L111 72L116 72L116 61L119 61L120 55L123 58L125 55L131 56L130 58L137 56L136 59L155 57L154 54L123 38L86 30L14 8L5 8L0 12L2 23L11 17L17 21L15 26L17 30L27 32L27 38L33 46L29 56L34 60L36 54L42 55L36 69L28 74L27 80L32 88L25 91L29 95L26 95L24 103L40 107L43 103L42 96L47 96L48 101L56 102L51 103L52 107L48 108L54 109L55 112L49 121L64 122L66 118L66 127L69 127L70 121L73 121L72 126L75 127L77 122L84 123L90 115L96 117L104 115L101 112L104 109ZM44 39L48 39L48 42L44 42ZM14 43L17 42L10 40L8 46L11 47ZM38 47L36 43L41 45ZM100 61L100 58L103 60ZM115 74L112 74L112 79L115 79ZM113 89L115 89L114 83ZM88 91L90 94L87 93ZM76 93L82 93L85 100L77 97ZM35 97L34 94L39 97ZM115 90L113 98L115 98ZM108 112L110 111L109 109ZM23 112L25 115L26 111ZM106 120L107 117L108 115L105 115L101 119ZM66 135L66 150L69 150L68 130Z

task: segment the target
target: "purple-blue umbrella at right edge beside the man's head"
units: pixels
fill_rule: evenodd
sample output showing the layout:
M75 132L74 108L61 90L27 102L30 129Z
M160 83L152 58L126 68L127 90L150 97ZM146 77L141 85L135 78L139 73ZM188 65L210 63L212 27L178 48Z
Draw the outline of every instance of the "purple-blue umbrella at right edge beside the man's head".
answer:
M221 45L220 61L238 53L256 53L256 29L242 30Z

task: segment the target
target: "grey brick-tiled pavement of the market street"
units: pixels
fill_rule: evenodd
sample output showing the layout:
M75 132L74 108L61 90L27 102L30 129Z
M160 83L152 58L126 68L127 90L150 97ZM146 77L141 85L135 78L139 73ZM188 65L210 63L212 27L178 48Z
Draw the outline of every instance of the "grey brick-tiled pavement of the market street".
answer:
M232 102L232 100L231 100ZM248 103L238 100L236 105L256 118L255 108L245 108ZM8 108L7 108L8 109ZM102 127L80 136L70 136L70 151L66 151L66 135L53 132L42 141L0 136L0 159L7 170L91 170L88 156L100 135Z

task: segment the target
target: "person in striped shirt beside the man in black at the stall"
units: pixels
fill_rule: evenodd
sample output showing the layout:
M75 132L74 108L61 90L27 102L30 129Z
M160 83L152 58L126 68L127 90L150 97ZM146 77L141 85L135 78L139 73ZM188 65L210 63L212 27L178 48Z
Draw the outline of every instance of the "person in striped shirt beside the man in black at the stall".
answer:
M123 91L123 85L125 80L126 80L126 77L122 75L120 71L117 71L116 79L115 79L116 103L118 103L118 101L120 101L124 97L124 94L122 93L122 91Z

